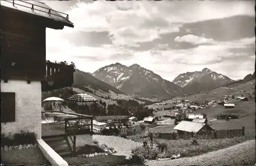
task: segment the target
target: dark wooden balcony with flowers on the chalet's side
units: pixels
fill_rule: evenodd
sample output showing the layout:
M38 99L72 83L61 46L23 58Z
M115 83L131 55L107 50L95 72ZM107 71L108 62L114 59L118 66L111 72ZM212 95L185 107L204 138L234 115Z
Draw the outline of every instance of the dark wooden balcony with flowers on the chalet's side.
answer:
M74 72L75 69L72 65L47 62L45 80L41 81L42 92L71 87L74 81Z

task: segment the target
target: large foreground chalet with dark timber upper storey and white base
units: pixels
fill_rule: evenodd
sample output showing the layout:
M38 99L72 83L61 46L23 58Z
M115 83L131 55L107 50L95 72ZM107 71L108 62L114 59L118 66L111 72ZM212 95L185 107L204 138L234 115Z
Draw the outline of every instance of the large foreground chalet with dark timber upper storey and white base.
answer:
M46 28L74 25L68 15L63 17L37 1L1 1L0 20L2 133L27 130L39 140L41 81L47 75Z

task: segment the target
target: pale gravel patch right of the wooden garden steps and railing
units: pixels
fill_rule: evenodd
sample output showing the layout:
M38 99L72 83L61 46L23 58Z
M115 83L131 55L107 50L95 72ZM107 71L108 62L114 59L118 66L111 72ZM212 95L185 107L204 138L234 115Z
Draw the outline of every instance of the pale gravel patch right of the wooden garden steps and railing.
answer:
M113 147L117 153L114 155L130 157L130 152L133 148L140 146L140 143L136 143L131 140L126 140L118 136L105 136L105 135L93 135L93 140L97 140L99 144L106 144Z

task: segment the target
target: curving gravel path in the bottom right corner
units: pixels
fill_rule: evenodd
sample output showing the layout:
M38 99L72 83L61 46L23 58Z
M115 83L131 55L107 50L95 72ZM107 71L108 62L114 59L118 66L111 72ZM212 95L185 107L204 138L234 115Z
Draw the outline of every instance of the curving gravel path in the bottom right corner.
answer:
M254 165L255 140L207 154L175 160L147 160L146 165Z

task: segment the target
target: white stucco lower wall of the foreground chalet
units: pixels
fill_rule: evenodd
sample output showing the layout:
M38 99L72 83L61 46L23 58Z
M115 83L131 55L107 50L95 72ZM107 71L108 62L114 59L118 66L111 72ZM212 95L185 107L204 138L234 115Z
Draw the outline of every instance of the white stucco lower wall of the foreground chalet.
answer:
M35 132L41 139L41 82L1 80L1 92L15 92L15 122L1 123L2 132L12 134L20 130Z

